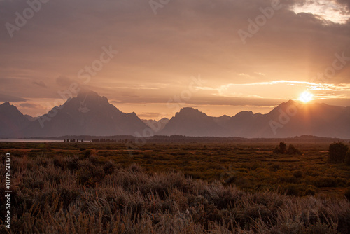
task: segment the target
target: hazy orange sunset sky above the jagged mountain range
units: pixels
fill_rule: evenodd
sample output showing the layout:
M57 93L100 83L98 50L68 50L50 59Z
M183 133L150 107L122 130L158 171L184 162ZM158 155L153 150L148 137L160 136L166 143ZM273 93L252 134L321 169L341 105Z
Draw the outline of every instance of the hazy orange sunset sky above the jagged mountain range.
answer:
M350 106L349 18L349 0L0 0L0 103L40 116L93 90L145 119Z

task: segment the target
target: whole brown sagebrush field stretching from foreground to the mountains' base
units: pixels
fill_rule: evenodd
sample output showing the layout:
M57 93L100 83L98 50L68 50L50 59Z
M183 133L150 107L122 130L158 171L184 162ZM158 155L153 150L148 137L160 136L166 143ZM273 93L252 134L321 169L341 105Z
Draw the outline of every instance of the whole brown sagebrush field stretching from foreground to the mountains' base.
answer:
M328 143L277 145L1 142L10 233L349 233L350 166Z

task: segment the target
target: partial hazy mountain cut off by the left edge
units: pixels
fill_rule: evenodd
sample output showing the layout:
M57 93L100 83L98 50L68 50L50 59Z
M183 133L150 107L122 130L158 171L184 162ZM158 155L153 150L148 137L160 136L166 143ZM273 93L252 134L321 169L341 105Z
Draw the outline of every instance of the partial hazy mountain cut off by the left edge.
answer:
M9 102L0 105L0 137L25 137L22 130L29 123L16 106Z

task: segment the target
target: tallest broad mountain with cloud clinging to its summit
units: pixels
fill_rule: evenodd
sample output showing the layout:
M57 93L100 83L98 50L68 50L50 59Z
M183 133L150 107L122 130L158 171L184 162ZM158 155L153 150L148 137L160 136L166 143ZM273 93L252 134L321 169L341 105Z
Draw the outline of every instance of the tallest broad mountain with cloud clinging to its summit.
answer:
M135 135L147 128L135 113L123 113L96 92L80 92L25 129L28 137Z

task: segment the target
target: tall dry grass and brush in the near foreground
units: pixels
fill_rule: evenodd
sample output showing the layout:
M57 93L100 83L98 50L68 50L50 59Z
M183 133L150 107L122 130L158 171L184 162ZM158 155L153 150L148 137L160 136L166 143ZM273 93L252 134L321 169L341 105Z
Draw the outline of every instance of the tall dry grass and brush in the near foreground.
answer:
M3 160L0 173L4 174ZM350 203L248 193L94 156L13 156L12 225L0 233L349 233Z

